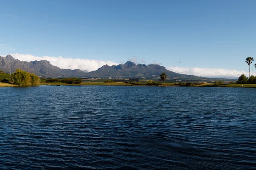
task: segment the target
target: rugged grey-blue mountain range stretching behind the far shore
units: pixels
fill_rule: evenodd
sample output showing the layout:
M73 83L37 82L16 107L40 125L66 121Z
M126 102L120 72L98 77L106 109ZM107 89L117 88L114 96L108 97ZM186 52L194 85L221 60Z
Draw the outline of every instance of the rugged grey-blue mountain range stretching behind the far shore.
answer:
M159 79L161 73L166 73L168 79L190 79L203 80L204 77L197 77L186 74L179 74L167 70L165 67L157 64L135 64L128 61L125 64L119 65L103 65L96 71L84 72L79 69L61 69L52 65L47 60L41 61L20 61L14 59L11 55L6 57L0 56L0 70L5 72L15 72L16 69L22 69L30 73L34 73L43 77L88 77L88 78L145 78L145 79Z

